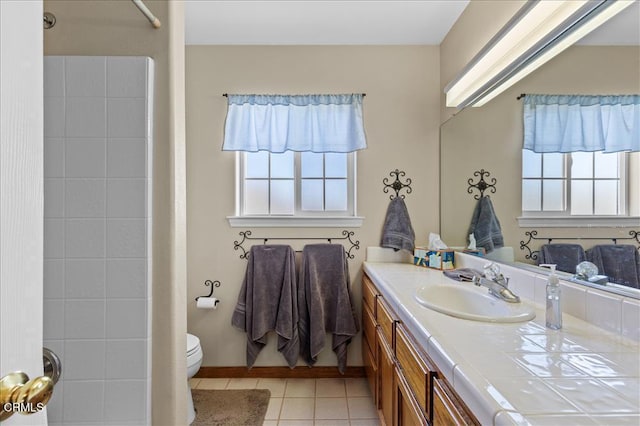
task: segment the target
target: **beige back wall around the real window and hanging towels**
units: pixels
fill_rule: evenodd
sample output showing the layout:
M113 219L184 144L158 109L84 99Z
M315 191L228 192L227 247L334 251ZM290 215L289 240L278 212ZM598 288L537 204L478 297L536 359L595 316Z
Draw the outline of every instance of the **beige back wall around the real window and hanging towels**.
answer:
M188 46L187 193L189 332L200 337L205 366L245 365L245 334L230 325L246 261L233 249L243 228L231 228L235 154L222 152L226 99L223 93L364 92L368 149L358 154L360 250L349 261L360 313L360 269L367 246L379 245L389 195L382 179L398 168L413 180L406 201L417 240L438 228L439 53L437 46ZM341 236L343 228L253 228L259 236ZM301 244L295 248L301 248ZM246 245L246 248L249 246ZM215 311L198 310L206 279L220 280ZM256 365L284 366L274 338ZM330 342L319 365L336 365ZM359 337L349 365L362 365Z

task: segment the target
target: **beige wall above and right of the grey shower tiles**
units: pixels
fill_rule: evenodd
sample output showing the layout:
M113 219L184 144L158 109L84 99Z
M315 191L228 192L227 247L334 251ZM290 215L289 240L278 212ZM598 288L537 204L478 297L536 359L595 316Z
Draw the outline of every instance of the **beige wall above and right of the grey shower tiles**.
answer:
M152 422L175 425L186 418L183 4L146 4L160 29L128 1L46 0L44 10L57 23L45 30L44 49L46 55L154 60Z

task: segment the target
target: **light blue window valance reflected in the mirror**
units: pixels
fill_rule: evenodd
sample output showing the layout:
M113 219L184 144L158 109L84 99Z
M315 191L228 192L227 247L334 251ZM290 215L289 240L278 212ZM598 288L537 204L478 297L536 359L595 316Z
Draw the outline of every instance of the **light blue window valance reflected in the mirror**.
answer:
M640 95L526 95L524 149L640 151Z

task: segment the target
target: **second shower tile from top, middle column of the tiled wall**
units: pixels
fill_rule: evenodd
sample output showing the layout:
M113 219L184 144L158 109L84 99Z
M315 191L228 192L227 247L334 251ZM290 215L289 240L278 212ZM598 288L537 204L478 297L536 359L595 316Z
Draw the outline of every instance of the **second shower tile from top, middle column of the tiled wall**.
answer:
M67 137L105 137L106 98L66 98L65 118Z

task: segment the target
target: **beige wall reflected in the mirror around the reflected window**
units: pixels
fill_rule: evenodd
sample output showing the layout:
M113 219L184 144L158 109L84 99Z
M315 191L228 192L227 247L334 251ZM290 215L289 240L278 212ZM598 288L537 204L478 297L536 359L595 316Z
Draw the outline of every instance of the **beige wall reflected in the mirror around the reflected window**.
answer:
M640 15L640 6L629 7L624 14ZM617 18L617 17L616 17ZM607 36L610 28L619 23L612 19L600 28ZM621 17L622 19L623 17ZM628 18L626 18L628 19ZM640 232L640 223L632 220L624 227L572 227L566 225L542 227L521 226L518 217L521 207L522 176L522 101L517 99L521 93L564 93L564 94L638 94L640 93L640 49L637 27L635 44L572 46L547 64L516 83L509 90L480 108L466 108L443 123L440 131L440 235L451 247L467 245L467 231L471 216L479 196L475 184L480 172L489 187L489 195L496 215L500 220L505 246L513 247L515 261L524 268L534 268L534 259L540 245L547 238L554 242L579 243L585 249L596 244L612 244L610 238L616 238L618 244L638 242L630 232ZM592 37L590 43L597 42ZM613 41L620 43L620 41ZM637 185L640 183L640 153L633 154L630 162L631 176ZM474 175L474 173L476 173ZM495 179L495 182L494 182ZM495 193L493 192L495 189ZM469 193L470 191L471 193ZM636 190L637 191L637 190ZM631 197L637 196L630 194ZM633 212L636 216L639 212ZM636 223L634 223L636 222ZM531 232L534 239L531 239ZM636 234L637 235L637 234ZM558 240L560 239L560 240ZM573 239L573 240L570 240ZM528 241L528 243L527 243ZM527 243L522 248L522 243ZM532 256L534 258L532 258ZM640 291L625 286L598 284L577 281L584 285L596 286L609 291L640 298ZM621 288L618 288L621 287Z

